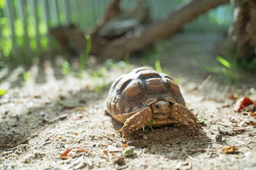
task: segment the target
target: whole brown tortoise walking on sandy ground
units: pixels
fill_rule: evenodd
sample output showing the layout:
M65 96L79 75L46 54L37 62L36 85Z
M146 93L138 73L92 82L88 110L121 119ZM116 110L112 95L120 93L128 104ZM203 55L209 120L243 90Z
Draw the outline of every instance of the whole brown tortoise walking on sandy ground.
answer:
M124 124L122 137L143 128L152 117L153 127L179 123L186 125L189 136L202 129L173 78L149 67L135 68L112 83L106 111Z

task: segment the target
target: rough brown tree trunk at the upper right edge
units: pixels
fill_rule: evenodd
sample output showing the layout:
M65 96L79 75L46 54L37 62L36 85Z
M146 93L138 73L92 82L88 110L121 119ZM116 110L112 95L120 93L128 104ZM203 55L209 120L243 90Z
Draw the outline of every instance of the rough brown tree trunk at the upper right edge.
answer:
M234 6L234 23L229 28L231 39L236 42L234 50L239 48L239 60L254 57L256 47L256 0L231 0Z

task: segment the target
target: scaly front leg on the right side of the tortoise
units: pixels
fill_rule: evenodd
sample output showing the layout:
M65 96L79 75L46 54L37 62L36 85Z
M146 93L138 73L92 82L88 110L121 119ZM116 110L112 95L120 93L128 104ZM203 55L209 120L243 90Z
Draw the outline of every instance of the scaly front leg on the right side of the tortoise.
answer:
M199 133L199 129L202 129L194 113L181 104L175 103L171 105L171 118L175 119L180 124L186 125L187 134L189 136L195 136L195 134Z

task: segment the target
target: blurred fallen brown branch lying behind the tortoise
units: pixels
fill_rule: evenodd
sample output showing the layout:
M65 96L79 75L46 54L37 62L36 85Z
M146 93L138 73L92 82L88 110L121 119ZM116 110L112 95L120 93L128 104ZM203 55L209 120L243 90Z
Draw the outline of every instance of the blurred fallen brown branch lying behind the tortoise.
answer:
M145 49L156 40L169 38L187 22L229 0L191 0L159 20L150 22L149 9L141 1L131 11L121 9L119 0L113 0L103 21L90 33L91 54L122 60L126 53ZM58 26L50 31L62 46L73 51L69 42L85 49L84 32L74 26Z

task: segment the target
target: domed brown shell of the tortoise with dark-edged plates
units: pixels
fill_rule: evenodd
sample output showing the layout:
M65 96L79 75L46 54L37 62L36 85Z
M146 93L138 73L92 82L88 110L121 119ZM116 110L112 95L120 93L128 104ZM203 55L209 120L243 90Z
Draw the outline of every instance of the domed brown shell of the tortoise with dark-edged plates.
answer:
M185 106L180 88L172 77L149 67L136 68L112 83L107 99L108 113L124 123L131 115L158 100Z

